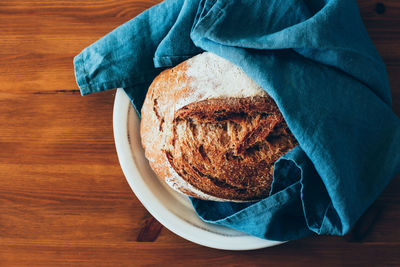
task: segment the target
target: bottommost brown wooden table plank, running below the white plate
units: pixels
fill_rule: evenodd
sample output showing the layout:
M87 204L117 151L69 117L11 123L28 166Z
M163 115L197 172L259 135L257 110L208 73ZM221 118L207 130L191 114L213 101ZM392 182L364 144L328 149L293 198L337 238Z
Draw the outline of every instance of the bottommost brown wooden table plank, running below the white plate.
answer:
M80 266L398 266L399 244L344 243L312 238L256 251L221 251L188 241L118 245L58 242L5 242L3 263ZM20 255L24 255L21 257Z

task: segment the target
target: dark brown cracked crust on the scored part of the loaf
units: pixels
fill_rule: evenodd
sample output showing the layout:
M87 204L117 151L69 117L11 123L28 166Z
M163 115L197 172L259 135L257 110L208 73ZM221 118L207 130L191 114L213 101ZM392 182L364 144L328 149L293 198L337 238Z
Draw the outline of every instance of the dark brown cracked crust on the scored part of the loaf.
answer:
M269 97L209 99L176 112L175 171L203 192L224 199L268 195L273 165L296 145Z

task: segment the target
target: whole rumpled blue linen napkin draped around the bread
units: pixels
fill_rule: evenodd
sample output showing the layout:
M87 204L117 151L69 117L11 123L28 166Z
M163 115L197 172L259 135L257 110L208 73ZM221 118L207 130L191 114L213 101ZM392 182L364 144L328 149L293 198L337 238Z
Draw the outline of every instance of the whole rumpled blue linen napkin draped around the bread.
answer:
M82 95L123 87L140 113L154 77L210 51L275 100L299 146L269 197L192 198L206 222L271 240L344 235L400 172L400 120L354 0L167 0L74 59Z

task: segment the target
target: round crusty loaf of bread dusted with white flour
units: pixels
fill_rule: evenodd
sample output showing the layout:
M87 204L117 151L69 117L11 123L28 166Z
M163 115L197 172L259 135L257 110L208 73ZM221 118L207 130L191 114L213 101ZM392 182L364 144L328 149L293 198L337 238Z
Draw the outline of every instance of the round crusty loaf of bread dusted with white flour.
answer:
M239 67L209 52L155 78L140 131L161 180L216 201L268 196L275 161L297 145L272 98Z

